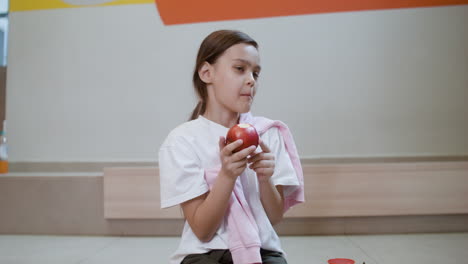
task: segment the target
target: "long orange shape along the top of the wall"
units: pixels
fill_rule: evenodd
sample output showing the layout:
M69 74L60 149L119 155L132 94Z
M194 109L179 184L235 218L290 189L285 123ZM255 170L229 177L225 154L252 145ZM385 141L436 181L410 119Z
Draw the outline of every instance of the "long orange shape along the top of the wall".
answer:
M165 25L468 4L468 0L156 0Z

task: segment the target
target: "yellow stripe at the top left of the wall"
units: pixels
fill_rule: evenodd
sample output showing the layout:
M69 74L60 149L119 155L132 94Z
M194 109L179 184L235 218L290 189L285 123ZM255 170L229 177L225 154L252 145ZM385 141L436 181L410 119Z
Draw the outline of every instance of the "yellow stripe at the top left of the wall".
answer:
M78 2L78 1L77 1ZM88 1L92 3L92 1ZM105 3L103 3L105 2ZM90 6L113 6L113 5L132 5L132 4L149 4L154 3L154 0L113 0L113 1L99 1L96 3L101 4L70 4L70 1L62 0L10 0L10 11L30 11L30 10L43 10L43 9L57 9L57 8L76 8L76 7L90 7Z

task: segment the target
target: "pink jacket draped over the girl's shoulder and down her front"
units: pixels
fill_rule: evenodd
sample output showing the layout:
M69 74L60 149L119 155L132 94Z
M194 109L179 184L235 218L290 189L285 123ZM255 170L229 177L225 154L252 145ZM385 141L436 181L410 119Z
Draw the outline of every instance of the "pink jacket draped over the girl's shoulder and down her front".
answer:
M259 135L262 135L271 127L277 127L279 129L300 184L299 186L285 186L285 188L295 188L295 190L287 197L284 197L284 212L291 206L304 202L304 176L301 162L297 153L296 144L286 124L264 117L253 117L250 113L242 114L239 123L249 123L253 125L257 129ZM205 179L210 187L214 184L219 170L220 168L205 170ZM226 221L229 234L228 246L234 263L261 263L261 243L257 223L245 199L240 181L236 181L231 198L229 199Z

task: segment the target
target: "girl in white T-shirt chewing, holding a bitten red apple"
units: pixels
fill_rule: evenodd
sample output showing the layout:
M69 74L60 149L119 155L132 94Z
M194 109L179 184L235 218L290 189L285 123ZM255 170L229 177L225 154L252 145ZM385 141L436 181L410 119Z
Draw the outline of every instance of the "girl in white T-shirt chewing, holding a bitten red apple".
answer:
M273 225L304 201L302 168L287 126L249 113L260 69L258 44L245 33L216 31L200 45L200 101L159 151L161 207L180 205L186 219L171 263L286 263ZM256 127L258 151L226 144L238 123Z

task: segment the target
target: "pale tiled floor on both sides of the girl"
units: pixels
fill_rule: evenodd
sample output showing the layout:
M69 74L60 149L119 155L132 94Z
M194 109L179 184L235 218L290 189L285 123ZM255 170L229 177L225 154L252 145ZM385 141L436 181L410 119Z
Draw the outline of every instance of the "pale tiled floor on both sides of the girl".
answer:
M351 258L357 264L468 263L468 233L282 237L290 264L326 264ZM0 235L1 264L160 264L177 237L84 237Z

